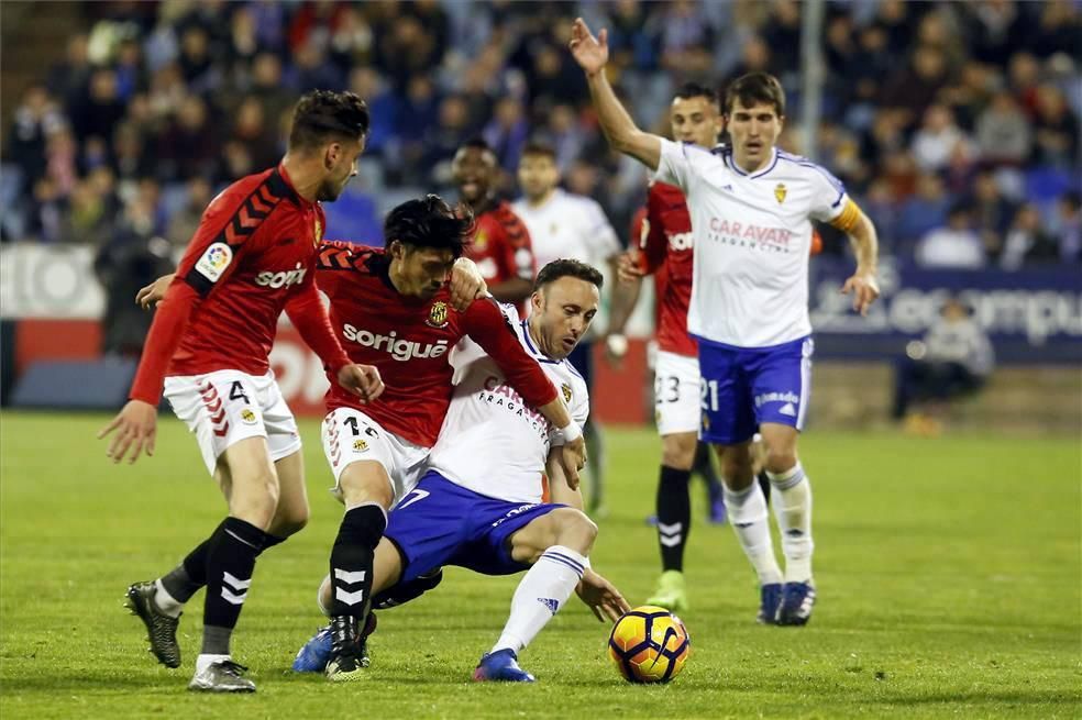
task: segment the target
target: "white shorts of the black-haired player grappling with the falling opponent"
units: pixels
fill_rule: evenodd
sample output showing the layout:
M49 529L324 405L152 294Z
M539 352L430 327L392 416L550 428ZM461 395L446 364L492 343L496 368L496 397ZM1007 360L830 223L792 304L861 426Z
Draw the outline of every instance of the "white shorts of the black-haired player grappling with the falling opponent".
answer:
M387 470L395 502L398 502L421 479L431 451L387 432L378 422L353 408L339 408L323 418L321 436L323 454L334 474L331 492L339 500L342 499L339 487L342 470L353 463L371 459Z

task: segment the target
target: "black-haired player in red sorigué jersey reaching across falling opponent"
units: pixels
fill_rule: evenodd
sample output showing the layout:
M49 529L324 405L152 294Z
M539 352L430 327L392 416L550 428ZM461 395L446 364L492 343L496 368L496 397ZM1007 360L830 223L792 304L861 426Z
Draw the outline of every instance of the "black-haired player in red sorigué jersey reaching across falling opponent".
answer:
M332 386L323 450L345 516L331 551L332 682L367 666L361 629L369 610L376 545L387 510L417 484L451 402L451 350L468 335L506 373L523 401L564 432L565 472L577 483L582 431L544 372L519 344L490 298L463 312L446 283L468 242L472 219L438 196L407 201L387 215L386 250L324 243L317 281L331 302L331 324L355 362L379 368L387 390L367 405Z

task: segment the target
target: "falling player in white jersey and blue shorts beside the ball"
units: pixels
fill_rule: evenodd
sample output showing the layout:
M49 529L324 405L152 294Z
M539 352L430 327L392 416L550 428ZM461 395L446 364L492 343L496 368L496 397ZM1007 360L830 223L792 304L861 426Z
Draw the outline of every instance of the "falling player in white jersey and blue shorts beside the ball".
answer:
M562 388L579 425L589 414L589 398L567 355L597 313L600 287L601 274L595 268L561 259L538 274L529 320L520 321L512 306L503 306L509 326ZM559 463L560 432L523 402L472 341L463 340L451 362L455 390L428 458L429 472L390 512L376 549L373 591L393 594L444 565L486 575L528 569L511 599L507 624L473 677L533 682L518 666L518 653L572 591L577 590L598 619L616 620L630 606L590 569L597 527L582 512L582 495ZM543 497L542 470L548 473L551 501ZM330 589L324 580L323 608ZM294 669L318 672L329 656L329 633L322 630L297 654Z

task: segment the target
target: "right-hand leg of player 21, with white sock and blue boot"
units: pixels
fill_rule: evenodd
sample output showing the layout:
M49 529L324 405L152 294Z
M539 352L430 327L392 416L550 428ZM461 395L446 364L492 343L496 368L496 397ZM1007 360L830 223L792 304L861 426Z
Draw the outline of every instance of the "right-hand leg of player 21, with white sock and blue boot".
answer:
M812 485L796 456L795 428L766 422L761 428L766 448L764 469L774 492L774 517L785 554L785 589L777 623L803 625L812 617Z

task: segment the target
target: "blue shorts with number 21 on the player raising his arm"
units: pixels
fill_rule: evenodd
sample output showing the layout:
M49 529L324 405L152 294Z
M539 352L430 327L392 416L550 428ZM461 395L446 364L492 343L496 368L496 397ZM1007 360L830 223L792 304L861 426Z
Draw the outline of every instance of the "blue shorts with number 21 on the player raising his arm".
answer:
M759 425L802 430L812 395L812 337L772 347L733 347L699 339L699 437L718 445L751 440Z

